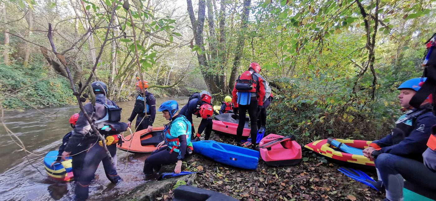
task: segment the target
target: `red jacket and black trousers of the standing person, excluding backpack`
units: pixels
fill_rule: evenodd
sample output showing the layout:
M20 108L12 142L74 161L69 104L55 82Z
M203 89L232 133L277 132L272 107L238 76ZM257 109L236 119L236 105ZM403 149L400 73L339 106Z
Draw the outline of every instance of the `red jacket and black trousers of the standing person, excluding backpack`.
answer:
M253 92L250 92L250 104L249 105L239 105L238 100L238 90L236 89L236 84L233 87L232 91L232 103L235 105L235 108L238 108L239 116L244 117L246 112L248 111L250 121L251 121L251 142L252 145L256 144L257 137L257 113L258 113L258 105L263 106L263 99L265 97L265 88L266 83L265 79L259 74L254 72L254 70L250 69L252 72L252 79L256 82L256 87L253 89ZM236 129L236 142L240 143L242 138L242 132L244 130L245 118L240 118L238 123L238 128Z

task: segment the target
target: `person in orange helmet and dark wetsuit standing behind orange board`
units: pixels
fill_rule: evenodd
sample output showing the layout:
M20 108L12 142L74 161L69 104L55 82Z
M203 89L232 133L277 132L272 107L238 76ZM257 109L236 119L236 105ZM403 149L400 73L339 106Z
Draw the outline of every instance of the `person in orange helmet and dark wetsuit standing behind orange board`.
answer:
M136 91L139 93L139 95L136 96L135 107L132 110L132 114L128 119L127 125L130 128L133 119L135 119L136 115L138 115L135 124L136 131L148 129L148 131L151 132L153 131L153 122L154 118L156 117L156 99L154 99L152 93L147 91L147 81L139 80L138 82L136 82L135 86Z

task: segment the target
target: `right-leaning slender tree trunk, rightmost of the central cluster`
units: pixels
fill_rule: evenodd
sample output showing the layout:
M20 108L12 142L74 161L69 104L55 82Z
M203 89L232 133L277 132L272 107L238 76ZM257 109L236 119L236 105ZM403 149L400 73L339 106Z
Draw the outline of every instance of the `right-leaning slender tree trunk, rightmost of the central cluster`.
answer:
M236 76L238 73L238 66L240 63L241 55L244 50L245 43L245 28L247 27L247 21L250 11L251 0L244 0L244 8L241 16L241 29L239 30L238 46L236 47L235 59L233 60L232 72L230 74L230 80L228 81L229 92L232 92Z

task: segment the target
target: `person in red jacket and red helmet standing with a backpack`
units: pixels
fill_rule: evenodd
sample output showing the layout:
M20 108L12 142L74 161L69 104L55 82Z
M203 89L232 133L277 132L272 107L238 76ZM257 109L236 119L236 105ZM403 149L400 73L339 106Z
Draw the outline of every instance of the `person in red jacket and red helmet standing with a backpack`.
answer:
M248 70L243 72L236 79L232 91L232 103L235 105L233 112L239 112L240 117L245 117L248 111L251 122L251 148L259 150L256 144L257 137L257 115L263 109L263 99L265 98L266 82L259 74L261 68L258 63L251 63ZM241 146L242 131L245 125L245 118L239 118L238 128L236 129L236 145Z

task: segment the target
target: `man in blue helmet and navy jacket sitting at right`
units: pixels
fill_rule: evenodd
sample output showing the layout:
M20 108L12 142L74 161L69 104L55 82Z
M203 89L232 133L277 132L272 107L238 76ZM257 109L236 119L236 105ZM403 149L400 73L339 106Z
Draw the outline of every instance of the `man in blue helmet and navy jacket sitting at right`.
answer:
M393 180L388 177L390 169L386 168L386 164L392 163L392 159L397 157L422 161L422 153L426 151L431 127L436 124L436 116L433 115L433 107L428 99L422 102L419 108L412 108L409 105L410 99L420 88L419 83L425 80L426 78L409 79L398 87L400 105L404 109L411 110L395 122L396 126L392 133L372 142L363 150L365 157L374 160L378 173L377 187L379 189L385 187L386 198L391 201L401 198L398 198L399 192L389 188L389 183Z

